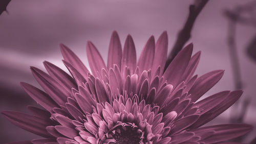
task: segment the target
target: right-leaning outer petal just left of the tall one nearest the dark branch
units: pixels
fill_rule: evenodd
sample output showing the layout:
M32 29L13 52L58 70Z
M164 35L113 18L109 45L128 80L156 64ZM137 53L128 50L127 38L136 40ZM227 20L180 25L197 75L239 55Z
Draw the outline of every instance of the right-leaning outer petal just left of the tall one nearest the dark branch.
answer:
M141 71L148 70L152 68L152 64L154 61L155 55L155 39L154 36L151 36L150 39L147 40L142 53L140 54L140 58L137 66Z

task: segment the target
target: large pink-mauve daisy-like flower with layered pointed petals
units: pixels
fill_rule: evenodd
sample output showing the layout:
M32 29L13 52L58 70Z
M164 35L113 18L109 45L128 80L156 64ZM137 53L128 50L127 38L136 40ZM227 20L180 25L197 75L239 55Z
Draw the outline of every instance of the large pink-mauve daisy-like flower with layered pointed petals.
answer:
M15 125L45 137L24 143L217 143L249 132L246 124L201 127L225 111L242 94L222 91L198 101L223 76L215 70L193 76L200 52L187 45L164 71L167 33L145 44L137 62L131 35L122 52L113 32L108 64L87 43L90 71L65 45L63 63L72 77L45 61L49 75L31 67L40 89L21 83L45 109L29 106L32 115L4 111Z

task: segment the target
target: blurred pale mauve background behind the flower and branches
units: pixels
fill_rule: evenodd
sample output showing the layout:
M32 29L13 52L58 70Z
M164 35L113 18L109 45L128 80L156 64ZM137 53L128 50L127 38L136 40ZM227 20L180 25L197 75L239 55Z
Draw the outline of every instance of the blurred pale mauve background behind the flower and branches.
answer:
M4 12L0 16L0 110L26 112L27 105L36 105L19 82L39 87L29 66L44 69L44 60L67 70L61 62L61 42L69 46L87 67L86 42L91 40L106 61L114 30L118 32L122 45L127 34L133 36L137 56L151 35L157 39L166 30L170 50L185 22L188 6L193 2L12 0L7 7L9 14ZM205 96L234 90L226 38L228 20L223 16L223 10L247 2L250 1L209 1L195 22L189 42L194 43L194 53L202 51L196 74L201 76L211 70L225 69L223 78ZM255 127L256 63L247 56L245 49L253 35L255 28L238 25L236 42L244 85L240 101L250 98L244 123ZM237 110L240 107L239 104ZM230 115L232 113L228 109L209 125L229 123ZM0 143L38 138L12 125L3 115L0 115L0 127ZM251 141L255 131L248 134L244 142Z

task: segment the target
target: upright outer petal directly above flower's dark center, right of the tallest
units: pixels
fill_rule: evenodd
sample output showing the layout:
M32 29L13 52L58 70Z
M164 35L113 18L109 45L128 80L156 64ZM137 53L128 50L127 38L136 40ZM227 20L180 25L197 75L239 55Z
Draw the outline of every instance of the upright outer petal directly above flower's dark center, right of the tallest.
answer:
M124 72L125 66L129 67L132 71L132 74L135 72L136 68L136 50L135 45L133 42L133 38L131 35L128 35L125 43L124 43L124 49L123 49L123 56L122 56L122 73Z

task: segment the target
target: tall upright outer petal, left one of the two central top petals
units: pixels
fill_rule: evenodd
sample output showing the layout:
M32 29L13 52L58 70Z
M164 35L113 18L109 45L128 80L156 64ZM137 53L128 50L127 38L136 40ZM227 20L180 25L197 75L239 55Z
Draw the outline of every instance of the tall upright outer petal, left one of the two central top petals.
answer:
M108 56L108 69L114 67L116 64L119 68L121 68L122 62L122 46L119 39L119 36L116 31L112 33L110 39L110 46L109 46L109 56Z

